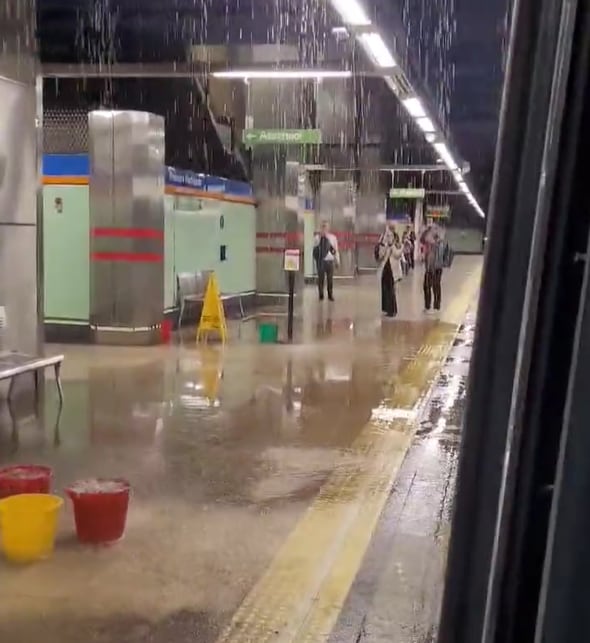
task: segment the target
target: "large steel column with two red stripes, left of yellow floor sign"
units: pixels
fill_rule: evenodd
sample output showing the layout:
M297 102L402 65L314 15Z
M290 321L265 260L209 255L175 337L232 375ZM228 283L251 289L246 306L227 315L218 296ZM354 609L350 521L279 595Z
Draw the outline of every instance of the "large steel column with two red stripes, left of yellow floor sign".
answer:
M88 118L95 340L154 343L164 310L164 119L134 111Z

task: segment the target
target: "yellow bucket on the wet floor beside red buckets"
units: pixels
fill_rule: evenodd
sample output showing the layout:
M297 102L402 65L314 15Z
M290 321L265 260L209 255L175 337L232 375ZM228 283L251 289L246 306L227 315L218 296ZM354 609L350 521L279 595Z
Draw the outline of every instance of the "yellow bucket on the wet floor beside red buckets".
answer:
M51 556L63 500L23 493L0 500L0 536L8 560L31 563Z

